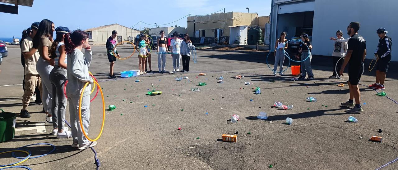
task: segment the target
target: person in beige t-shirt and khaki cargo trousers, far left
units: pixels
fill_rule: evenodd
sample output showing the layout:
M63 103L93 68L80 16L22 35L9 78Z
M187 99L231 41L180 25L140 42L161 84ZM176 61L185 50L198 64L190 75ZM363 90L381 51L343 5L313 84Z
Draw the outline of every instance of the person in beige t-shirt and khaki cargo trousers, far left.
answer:
M29 106L29 102L33 93L35 92L36 87L41 83L41 78L39 73L36 70L36 64L39 60L39 53L37 49L33 48L33 37L35 37L37 33L37 27L39 23L33 23L30 31L25 31L26 35L21 41L21 52L24 58L24 75L25 75L25 91L23 91L22 96L22 109L21 109L21 117L22 118L30 118L30 114L27 111L27 107ZM28 30L28 29L27 29Z

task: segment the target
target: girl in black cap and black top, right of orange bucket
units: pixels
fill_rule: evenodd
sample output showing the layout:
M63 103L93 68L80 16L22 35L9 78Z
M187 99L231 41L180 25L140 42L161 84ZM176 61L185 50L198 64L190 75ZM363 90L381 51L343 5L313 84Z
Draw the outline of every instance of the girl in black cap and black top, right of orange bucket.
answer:
M301 53L301 60L305 60L307 57L308 59L300 63L301 76L298 78L305 79L305 76L308 73L307 79L314 79L314 73L312 73L312 68L311 68L312 45L310 39L308 39L308 34L304 33L301 36L301 41L304 43L300 43L300 47L298 48L298 53L296 54L296 57L298 57Z

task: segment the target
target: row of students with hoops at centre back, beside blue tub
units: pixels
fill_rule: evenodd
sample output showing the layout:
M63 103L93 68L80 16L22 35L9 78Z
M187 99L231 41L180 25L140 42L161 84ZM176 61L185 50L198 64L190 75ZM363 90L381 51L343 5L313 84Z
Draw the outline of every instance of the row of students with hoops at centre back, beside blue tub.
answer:
M171 54L173 60L173 71L180 71L180 61L182 56L182 67L183 70L181 72L188 72L189 71L189 59L191 57L191 50L195 47L192 45L192 41L189 39L189 35L186 33L184 34L184 39L179 39L179 33L176 31L173 34L174 39L170 41L171 44L171 51L167 47L167 38L164 37L164 31L160 31L160 38L158 41L158 69L159 73L166 72L166 54L167 53L174 53ZM113 67L115 65L116 57L120 58L119 52L115 49L117 44L116 38L117 31L113 30L112 35L108 38L105 48L107 49L107 56L110 62L109 67L109 78L117 79L115 75L113 75ZM145 35L141 33L139 35L139 39L135 43L135 49L138 50L138 67L140 70L140 75L147 74L147 63L149 65L148 73L153 73L152 71L152 63L151 63L151 40L148 38L149 35ZM115 56L117 55L117 56Z

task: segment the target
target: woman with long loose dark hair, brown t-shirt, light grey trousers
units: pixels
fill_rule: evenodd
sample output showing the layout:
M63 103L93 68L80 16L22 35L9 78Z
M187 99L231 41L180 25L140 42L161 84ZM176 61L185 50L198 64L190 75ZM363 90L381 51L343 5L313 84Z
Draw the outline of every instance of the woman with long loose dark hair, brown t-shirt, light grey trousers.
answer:
M49 52L53 44L53 33L55 31L54 23L48 19L43 19L40 22L39 29L33 38L33 48L39 51L40 57L36 64L36 70L41 77L43 108L47 115L45 124L47 126L53 125L57 127L57 120L53 122L53 113L51 112L51 105L53 102L52 85L49 79L51 70L53 70L54 61L51 60ZM54 134L54 130L53 130ZM55 132L56 134L56 132Z

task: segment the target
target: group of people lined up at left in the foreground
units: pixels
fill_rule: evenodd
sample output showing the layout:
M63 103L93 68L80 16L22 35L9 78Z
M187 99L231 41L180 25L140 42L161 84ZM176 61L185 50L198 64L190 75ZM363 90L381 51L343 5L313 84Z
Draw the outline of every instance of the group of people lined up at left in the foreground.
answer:
M56 31L56 39L53 33ZM57 138L73 138L71 147L79 150L93 147L96 142L86 139L79 120L80 95L81 115L84 131L90 124L90 84L93 83L88 68L92 59L88 34L84 31L70 31L67 27L55 28L54 23L43 19L35 22L23 31L21 52L25 59L25 90L22 97L22 118L29 118L29 101L39 87L43 110L46 113L45 124L53 126L52 134ZM84 53L82 50L84 49ZM68 80L66 91L64 86ZM89 82L82 92L83 86ZM66 96L67 98L66 98ZM65 126L66 104L69 101L71 131Z

